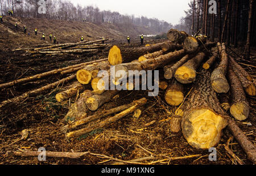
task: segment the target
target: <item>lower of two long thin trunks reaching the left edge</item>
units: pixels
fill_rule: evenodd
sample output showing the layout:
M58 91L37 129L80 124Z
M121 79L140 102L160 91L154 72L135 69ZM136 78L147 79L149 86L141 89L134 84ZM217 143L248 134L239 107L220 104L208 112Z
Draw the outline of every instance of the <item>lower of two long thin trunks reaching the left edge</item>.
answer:
M23 100L26 100L26 98L28 98L29 96L39 95L40 93L46 92L49 89L54 89L58 85L67 83L68 81L71 81L71 80L73 80L75 78L76 78L76 75L74 74L74 75L68 76L67 78L63 78L63 79L61 79L59 81L56 81L55 83L51 83L51 84L45 85L44 87L35 89L33 91L28 91L26 93L23 93L20 96L16 96L14 98L11 98L10 100L6 100L6 101L1 102L0 108L2 108L5 105L8 105L8 104L18 104L19 102L21 102Z

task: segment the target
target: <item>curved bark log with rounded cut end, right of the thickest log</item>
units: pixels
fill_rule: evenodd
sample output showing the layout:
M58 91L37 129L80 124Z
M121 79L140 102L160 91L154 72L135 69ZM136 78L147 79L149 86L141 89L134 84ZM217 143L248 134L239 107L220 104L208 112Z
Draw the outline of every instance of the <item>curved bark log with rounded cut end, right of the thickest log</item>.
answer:
M237 78L236 74L233 72L231 66L228 68L228 78L232 94L230 113L238 121L243 121L248 117L250 107L248 101L246 100L245 92L243 92L242 84Z

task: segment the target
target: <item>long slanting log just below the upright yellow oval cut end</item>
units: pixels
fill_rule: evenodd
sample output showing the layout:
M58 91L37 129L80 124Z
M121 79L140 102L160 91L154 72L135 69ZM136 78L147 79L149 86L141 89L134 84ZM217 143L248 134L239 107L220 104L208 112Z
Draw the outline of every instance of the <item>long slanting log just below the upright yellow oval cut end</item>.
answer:
M125 76L122 76L122 79L125 79L129 76L129 70L133 71L147 71L147 70L155 70L156 68L163 67L167 65L168 63L171 63L173 61L176 61L176 59L179 59L185 55L184 49L170 52L168 54L160 55L160 57L154 58L154 59L147 59L146 61L142 62L130 62L130 63L122 63L117 66L114 66L113 69L115 72L117 71L124 71L126 73ZM115 74L112 73L112 74ZM115 78L115 75L113 75L113 78ZM109 78L110 79L110 78ZM114 80L111 80L115 85L118 85L120 83L119 78L115 78Z

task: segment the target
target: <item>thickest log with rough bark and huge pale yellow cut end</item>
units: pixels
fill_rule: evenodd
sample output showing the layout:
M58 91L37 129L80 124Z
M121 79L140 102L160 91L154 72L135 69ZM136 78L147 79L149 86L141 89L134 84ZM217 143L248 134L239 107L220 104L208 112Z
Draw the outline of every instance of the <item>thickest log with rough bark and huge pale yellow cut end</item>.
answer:
M209 149L218 144L221 131L227 125L216 92L210 85L210 72L201 69L195 87L189 95L181 128L188 143L197 149Z

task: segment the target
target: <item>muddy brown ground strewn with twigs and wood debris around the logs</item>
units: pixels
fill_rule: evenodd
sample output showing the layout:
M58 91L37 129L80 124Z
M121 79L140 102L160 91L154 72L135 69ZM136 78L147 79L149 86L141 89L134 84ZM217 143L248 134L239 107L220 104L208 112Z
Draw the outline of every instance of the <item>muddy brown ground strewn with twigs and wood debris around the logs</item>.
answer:
M151 41L149 43L152 42L159 41ZM134 44L134 46L137 45ZM236 51L240 54L240 50ZM255 53L254 51L252 54ZM23 55L22 51L13 53L10 50L1 51L0 54L3 58L0 61L0 83L5 83L55 68L74 65L93 59L106 58L108 51L91 55L71 55L61 58L43 56L32 58ZM237 61L245 64L241 64L241 66L246 68L254 78L256 77L255 57L250 62L237 57ZM49 78L33 81L33 83L2 89L0 91L0 101L53 83L61 78L64 77L54 75ZM59 104L55 100L56 93L61 91L62 87L66 85L60 85L58 88L46 92L43 95L29 97L21 104L10 105L2 109L0 114L0 164L113 164L115 162L92 155L82 156L79 159L47 157L46 161L39 161L37 157L18 157L8 152L18 151L19 149L38 151L40 147L46 148L47 151L59 152L90 151L92 153L104 154L105 156L113 156L121 160L132 160L134 158L150 156L150 153L139 148L138 144L151 153L166 153L168 157L201 154L201 157L184 160L150 160L157 161L155 164L237 164L224 149L224 144L232 136L227 128L223 131L220 144L217 146L217 161L209 161L208 156L210 152L192 148L184 139L181 132L177 134L170 132L170 121L168 121L168 117L170 117L170 113L174 113L176 107L167 105L164 102L164 91L160 91L157 97L148 97L147 91L122 91L112 101L98 109L98 111L114 108L133 100L138 100L141 97L146 97L148 101L141 108L142 114L139 118L134 118L133 114L130 114L117 123L69 141L60 131L60 128L66 123L63 121L63 118L68 112L69 101L67 100ZM188 85L187 92L190 87L191 85ZM244 122L237 122L237 125L255 143L256 98L249 96L247 98L251 106L249 118ZM74 101L75 97L71 99L71 103ZM88 115L90 114L93 113L89 112ZM144 127L146 123L152 121L155 121L155 123L151 126ZM92 123L89 125L92 125ZM27 129L29 132L28 139L19 140L21 138L20 131L24 129ZM232 151L245 164L251 164L237 141L233 139L230 143L232 143L230 145Z

